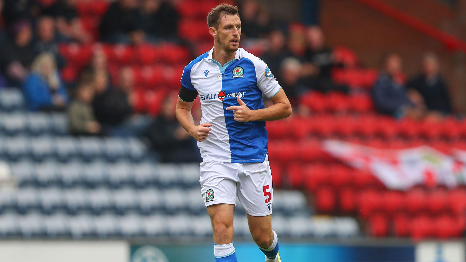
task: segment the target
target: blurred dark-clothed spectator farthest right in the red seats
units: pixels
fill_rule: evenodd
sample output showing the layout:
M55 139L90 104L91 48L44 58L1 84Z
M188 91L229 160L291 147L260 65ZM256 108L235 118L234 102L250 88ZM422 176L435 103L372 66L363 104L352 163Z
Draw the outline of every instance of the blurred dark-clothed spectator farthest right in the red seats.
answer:
M408 93L417 92L425 102L430 115L446 115L452 113L452 105L448 86L439 73L439 60L435 54L429 53L423 59L423 72L412 78L407 84Z

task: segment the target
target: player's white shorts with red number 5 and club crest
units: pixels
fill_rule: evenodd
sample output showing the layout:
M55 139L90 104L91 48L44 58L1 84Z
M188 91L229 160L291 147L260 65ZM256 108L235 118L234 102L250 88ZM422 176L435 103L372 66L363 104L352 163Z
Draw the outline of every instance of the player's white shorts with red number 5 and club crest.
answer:
M201 194L206 207L214 204L235 205L238 196L247 214L272 214L274 191L268 160L243 164L205 160L200 164L199 171Z

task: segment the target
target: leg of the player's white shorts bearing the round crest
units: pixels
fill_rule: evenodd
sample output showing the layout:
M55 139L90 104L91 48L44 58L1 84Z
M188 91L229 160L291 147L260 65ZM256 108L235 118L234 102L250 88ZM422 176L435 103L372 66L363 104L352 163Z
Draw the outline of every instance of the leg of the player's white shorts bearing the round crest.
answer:
M201 195L206 207L215 204L236 204L236 174L234 163L203 161L199 166Z

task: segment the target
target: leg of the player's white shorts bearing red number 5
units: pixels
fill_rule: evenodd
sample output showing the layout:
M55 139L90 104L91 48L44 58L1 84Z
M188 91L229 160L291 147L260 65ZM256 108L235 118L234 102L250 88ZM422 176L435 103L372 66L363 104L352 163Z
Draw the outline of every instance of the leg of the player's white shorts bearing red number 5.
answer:
M251 216L272 214L274 191L268 161L243 164L238 177L238 199L246 213Z

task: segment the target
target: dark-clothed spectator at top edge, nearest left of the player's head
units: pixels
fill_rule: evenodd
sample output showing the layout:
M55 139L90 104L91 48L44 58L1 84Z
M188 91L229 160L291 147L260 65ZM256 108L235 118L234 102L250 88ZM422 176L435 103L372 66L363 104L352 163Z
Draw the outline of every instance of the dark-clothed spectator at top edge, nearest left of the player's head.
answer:
M137 28L141 28L148 41L175 40L179 14L170 1L143 0Z

